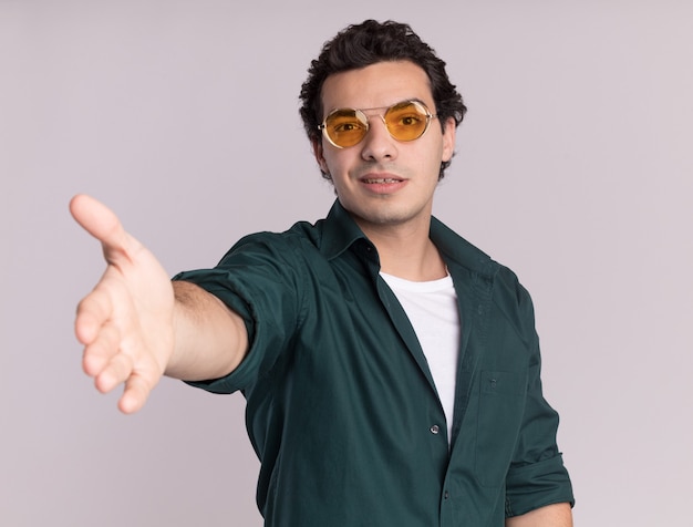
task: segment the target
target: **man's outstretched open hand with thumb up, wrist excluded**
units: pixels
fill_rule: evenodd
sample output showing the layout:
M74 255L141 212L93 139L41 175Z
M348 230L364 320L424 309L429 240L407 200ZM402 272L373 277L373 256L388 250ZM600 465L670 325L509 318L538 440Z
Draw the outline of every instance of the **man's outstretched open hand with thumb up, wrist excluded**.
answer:
M70 202L74 219L101 241L106 270L77 307L75 334L83 368L103 393L121 383L124 413L139 410L174 348L174 291L168 275L105 205L85 195Z

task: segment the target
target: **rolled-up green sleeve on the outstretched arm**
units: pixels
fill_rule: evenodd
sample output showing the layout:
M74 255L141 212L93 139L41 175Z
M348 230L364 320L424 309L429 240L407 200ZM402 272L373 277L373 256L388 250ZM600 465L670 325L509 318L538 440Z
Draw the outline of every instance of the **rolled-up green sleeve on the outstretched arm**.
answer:
M218 297L245 321L249 352L230 374L188 382L214 393L254 385L286 362L286 350L301 318L301 273L294 248L281 235L262 232L236 244L214 269L182 272L185 280Z

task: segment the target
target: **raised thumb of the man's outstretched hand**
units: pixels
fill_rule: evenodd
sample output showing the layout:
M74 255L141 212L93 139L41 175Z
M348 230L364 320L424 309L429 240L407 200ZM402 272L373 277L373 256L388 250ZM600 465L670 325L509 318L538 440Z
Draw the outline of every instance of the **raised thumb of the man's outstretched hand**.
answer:
M133 238L113 210L91 196L79 194L70 200L70 213L84 230L101 241L108 262L116 262L120 257L130 259Z

